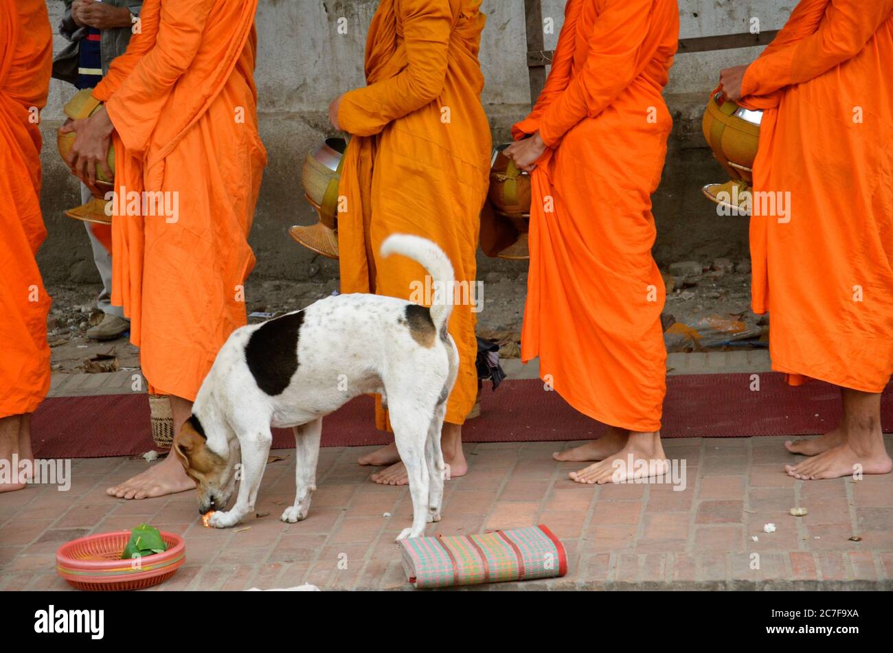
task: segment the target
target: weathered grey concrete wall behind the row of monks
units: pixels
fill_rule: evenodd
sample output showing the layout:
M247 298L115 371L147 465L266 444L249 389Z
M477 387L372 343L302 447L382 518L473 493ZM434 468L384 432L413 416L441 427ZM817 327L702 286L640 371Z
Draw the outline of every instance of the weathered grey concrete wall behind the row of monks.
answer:
M286 233L293 224L310 224L313 211L300 192L300 163L305 153L330 135L330 100L363 84L363 45L377 0L260 0L257 12L259 51L255 81L259 94L261 133L269 153L251 243L261 277L302 278L311 263L321 274L336 274L336 266L314 257ZM779 29L794 0L680 0L681 37L731 34L748 30L753 18L760 29ZM47 0L55 25L63 3ZM551 49L563 21L563 0L543 0L544 18L554 21L547 33ZM494 141L508 139L508 128L529 109L530 87L524 65L523 0L483 0L488 14L480 61L487 79L483 103L490 116ZM346 34L338 34L338 19L346 19ZM65 45L56 37L55 48ZM655 256L661 263L680 258L746 256L747 222L717 218L700 194L700 186L722 178L719 166L700 135L700 113L707 93L725 66L748 62L758 48L704 54L680 54L666 89L676 118L663 183L655 194L658 240ZM55 150L55 129L61 124L69 85L54 80L43 114L45 133L43 206L49 236L38 259L47 280L92 281L96 278L87 237L79 222L63 210L78 203L78 185ZM480 269L521 270L520 263L480 256Z

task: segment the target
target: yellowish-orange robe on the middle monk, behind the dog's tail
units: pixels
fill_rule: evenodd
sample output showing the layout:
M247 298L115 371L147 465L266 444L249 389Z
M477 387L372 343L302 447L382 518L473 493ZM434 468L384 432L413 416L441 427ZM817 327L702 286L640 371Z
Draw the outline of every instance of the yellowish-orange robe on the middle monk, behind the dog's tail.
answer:
M480 0L381 0L366 43L369 86L341 99L338 123L353 135L338 192L343 293L378 293L423 303L425 271L401 257L379 259L390 234L437 243L458 282L449 332L459 376L447 422L462 424L478 377L475 282L480 208L488 188L490 131L480 104ZM430 295L430 293L429 293ZM427 298L430 302L430 296ZM482 298L478 298L482 301ZM387 427L386 413L377 423Z

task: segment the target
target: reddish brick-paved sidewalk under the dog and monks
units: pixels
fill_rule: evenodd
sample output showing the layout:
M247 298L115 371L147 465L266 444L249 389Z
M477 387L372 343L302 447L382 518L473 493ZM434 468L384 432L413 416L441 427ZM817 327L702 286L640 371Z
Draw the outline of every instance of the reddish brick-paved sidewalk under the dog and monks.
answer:
M574 484L567 472L579 465L552 460L556 443L468 445L471 471L447 483L443 521L428 533L541 523L563 539L566 577L491 586L498 589L893 587L893 475L795 481L781 470L797 458L783 440L664 442L670 458L687 460L684 492L661 484ZM249 519L240 532L204 528L192 492L107 497L109 484L146 468L142 459L75 460L70 492L42 486L0 495L0 590L65 589L54 573L64 541L140 522L186 538L186 565L159 590L301 583L407 589L393 539L409 525L409 493L367 480L370 468L355 463L367 450L322 450L310 516L294 525L279 521L294 499L294 455L276 451L289 458L271 463L264 476L257 509L270 514ZM808 515L791 517L795 506ZM769 522L774 533L764 533Z

